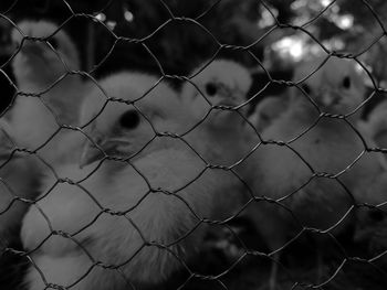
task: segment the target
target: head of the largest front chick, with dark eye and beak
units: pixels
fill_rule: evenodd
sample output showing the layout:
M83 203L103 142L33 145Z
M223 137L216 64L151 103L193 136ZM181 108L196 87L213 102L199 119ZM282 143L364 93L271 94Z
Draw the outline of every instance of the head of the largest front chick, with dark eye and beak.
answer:
M85 132L94 142L87 140L81 165L104 158L103 151L118 157L138 153L158 132L181 133L189 114L176 93L157 82L156 77L128 72L98 82L108 100L94 88L83 104L82 122L88 122Z

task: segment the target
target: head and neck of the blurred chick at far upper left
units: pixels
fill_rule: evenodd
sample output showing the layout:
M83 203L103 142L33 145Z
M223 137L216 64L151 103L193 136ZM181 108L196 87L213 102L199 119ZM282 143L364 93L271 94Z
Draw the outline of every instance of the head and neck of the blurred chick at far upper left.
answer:
M81 69L75 44L63 29L48 21L22 21L18 28L22 34L14 29L12 40L21 47L13 58L12 67L19 90L41 94L41 98L53 111L48 114L57 116L61 123L72 125L77 117L73 111L79 110L83 96L81 75L69 74L70 71ZM43 37L44 41L29 40L24 35ZM34 107L38 106L35 103L35 98L18 96L14 106ZM34 111L31 110L29 116L32 112Z

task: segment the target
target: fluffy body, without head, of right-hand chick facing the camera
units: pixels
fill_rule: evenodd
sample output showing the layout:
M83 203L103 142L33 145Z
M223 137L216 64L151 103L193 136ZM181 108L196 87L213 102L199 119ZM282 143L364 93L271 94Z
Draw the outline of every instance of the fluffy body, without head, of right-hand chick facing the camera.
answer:
M301 132L300 128L303 128L302 126L305 123L300 123L295 115L290 111L274 125L275 128L269 127L268 130L279 129L279 131L270 131L270 135L264 131L264 137L273 140L290 140ZM335 128L334 131L332 127ZM292 130L290 128L299 129ZM364 149L362 140L344 121L321 120L312 130L292 142L290 147L299 152L315 172L337 174L352 164ZM271 198L281 198L306 184L313 174L308 165L287 147L262 146L253 158L254 162L263 164L262 172L260 171L259 179L253 185L254 189L259 189L255 192L258 196L263 194ZM338 179L351 191L354 191L359 182L366 183L368 173L372 175L381 171L381 165L375 165L377 162L377 158L366 153L354 168ZM364 171L365 169L369 170ZM353 201L335 180L315 178L293 196L283 201L283 204L292 210L292 213L299 217L304 226L327 229L344 216ZM282 222L284 229L279 230L279 227L273 226L270 228L281 236L287 233L289 222L286 221L294 221L289 218L289 213L279 212L284 214ZM264 215L263 213L258 214ZM261 218L259 217L259 219ZM294 233L292 235L294 236ZM269 243L275 244L278 241L279 245L274 247L278 248L285 240L283 238L270 239Z

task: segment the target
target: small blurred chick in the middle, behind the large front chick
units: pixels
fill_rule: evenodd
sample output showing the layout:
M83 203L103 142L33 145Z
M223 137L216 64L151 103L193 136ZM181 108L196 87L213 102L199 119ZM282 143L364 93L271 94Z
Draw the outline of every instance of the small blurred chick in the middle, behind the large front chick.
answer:
M248 154L250 142L247 136L252 136L252 132L248 132L245 120L237 111L210 109L212 106L234 108L243 104L252 78L244 66L233 61L216 60L200 71L203 66L191 74L191 82L196 86L187 82L181 90L182 103L191 108L195 117L192 126L209 114L187 136L187 140L209 163L232 165ZM243 106L238 110L245 115L245 108ZM211 140L212 148L208 148L201 139Z

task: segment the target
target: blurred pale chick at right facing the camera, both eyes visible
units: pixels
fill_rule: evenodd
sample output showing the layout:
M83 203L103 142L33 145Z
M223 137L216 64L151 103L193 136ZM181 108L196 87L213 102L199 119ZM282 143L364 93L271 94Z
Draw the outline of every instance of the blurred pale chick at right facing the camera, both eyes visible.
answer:
M317 57L301 63L295 69L295 82L312 74L323 60ZM353 62L346 60L331 57L301 86L323 112L349 114L363 100L362 78ZM372 153L365 153L355 162L365 146L345 120L324 117L315 123L318 116L306 96L294 88L289 109L262 132L264 140L292 140L289 147L262 144L251 155L251 163L255 164L250 175L254 194L274 200L289 195L281 203L296 217L266 202L254 203L248 208L247 214L255 221L271 250L284 246L303 226L320 229L333 226L354 203L353 197L357 197L351 194L355 195L358 186L383 170L378 157ZM348 119L356 122L356 118L358 116L354 115ZM305 132L310 127L313 128ZM347 168L349 164L353 167ZM351 194L334 179L310 181L313 171L328 174L345 171L338 180ZM345 228L347 221L335 230ZM275 265L270 280L272 289L275 288Z

